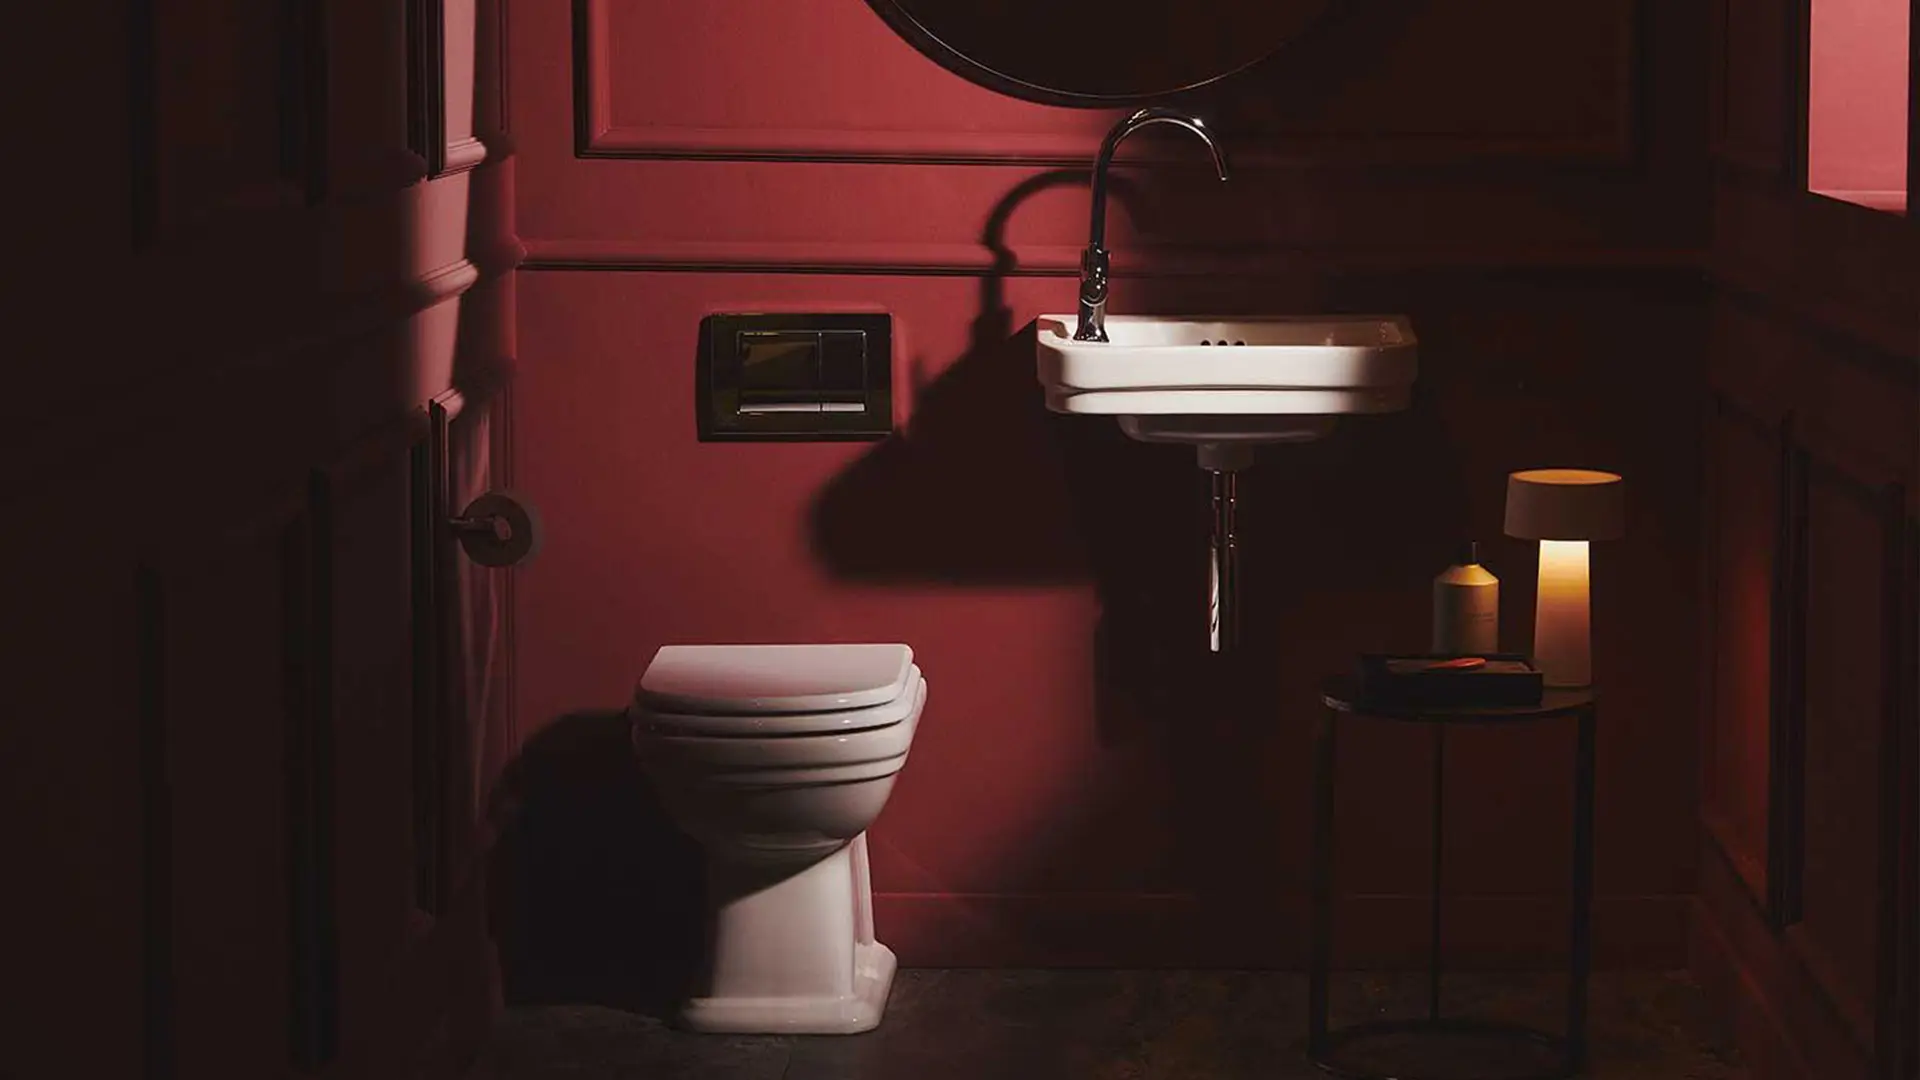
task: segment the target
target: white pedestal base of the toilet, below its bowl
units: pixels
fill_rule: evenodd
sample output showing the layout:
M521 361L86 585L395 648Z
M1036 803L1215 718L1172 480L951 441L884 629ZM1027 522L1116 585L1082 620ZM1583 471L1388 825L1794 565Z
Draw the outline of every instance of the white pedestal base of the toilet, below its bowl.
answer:
M879 1026L893 949L874 940L866 834L791 876L708 863L712 953L680 1026L726 1034L854 1034Z

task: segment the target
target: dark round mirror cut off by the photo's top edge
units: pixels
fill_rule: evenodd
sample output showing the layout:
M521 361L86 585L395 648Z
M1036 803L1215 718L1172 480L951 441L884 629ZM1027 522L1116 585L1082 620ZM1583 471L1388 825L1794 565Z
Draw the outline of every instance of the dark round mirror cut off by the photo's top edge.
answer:
M1050 106L1131 106L1244 71L1334 0L868 0L920 52Z

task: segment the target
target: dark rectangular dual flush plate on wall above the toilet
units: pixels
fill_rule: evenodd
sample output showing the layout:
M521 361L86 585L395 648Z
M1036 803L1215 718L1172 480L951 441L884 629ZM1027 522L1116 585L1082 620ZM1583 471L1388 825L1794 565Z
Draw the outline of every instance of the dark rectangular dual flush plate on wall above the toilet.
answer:
M695 371L701 442L893 434L893 317L708 315Z

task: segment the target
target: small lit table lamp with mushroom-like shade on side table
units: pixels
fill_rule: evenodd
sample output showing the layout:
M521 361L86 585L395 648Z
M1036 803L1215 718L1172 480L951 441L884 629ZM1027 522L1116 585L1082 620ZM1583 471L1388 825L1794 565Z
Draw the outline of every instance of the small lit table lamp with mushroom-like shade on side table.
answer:
M1626 484L1592 469L1526 469L1507 477L1507 536L1540 540L1534 663L1548 686L1594 684L1588 542L1626 528Z

